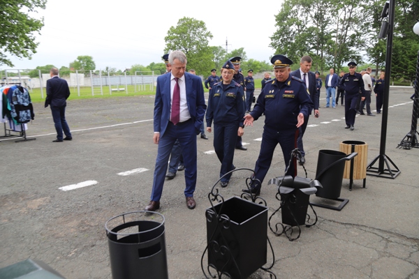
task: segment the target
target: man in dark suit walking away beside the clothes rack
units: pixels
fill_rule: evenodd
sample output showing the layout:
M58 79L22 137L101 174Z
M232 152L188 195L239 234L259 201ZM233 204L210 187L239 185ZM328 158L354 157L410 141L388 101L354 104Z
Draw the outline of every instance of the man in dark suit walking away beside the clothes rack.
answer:
M70 89L66 80L58 76L58 69L50 70L50 80L47 80L47 98L45 107L50 105L52 119L54 119L55 130L57 130L57 139L52 142L63 142L63 140L73 140L70 128L66 121L66 100L70 96ZM66 137L63 139L63 130Z

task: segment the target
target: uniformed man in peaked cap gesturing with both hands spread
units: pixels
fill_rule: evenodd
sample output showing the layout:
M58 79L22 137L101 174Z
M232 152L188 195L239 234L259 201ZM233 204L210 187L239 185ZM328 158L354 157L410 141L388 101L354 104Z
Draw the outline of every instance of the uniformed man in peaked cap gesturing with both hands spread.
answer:
M271 63L274 67L275 79L265 85L253 111L244 116L244 125L252 126L253 121L265 113L262 143L255 166L256 183L251 185L250 190L256 195L260 193L261 183L270 168L277 144L281 145L284 154L286 175L293 177L296 175L295 158L291 165L289 164L291 151L297 147L298 130L314 106L304 82L290 75L290 65L293 61L284 55L275 55ZM249 193L249 190L244 189L243 192Z

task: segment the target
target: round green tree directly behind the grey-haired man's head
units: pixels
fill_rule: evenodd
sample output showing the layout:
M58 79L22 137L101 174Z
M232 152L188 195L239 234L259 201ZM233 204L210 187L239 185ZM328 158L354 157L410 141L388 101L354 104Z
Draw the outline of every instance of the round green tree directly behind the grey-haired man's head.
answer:
M207 30L205 22L191 17L183 17L176 27L170 27L165 52L181 50L186 54L188 69L195 69L198 74L207 73L214 66L214 54L208 45L212 33Z

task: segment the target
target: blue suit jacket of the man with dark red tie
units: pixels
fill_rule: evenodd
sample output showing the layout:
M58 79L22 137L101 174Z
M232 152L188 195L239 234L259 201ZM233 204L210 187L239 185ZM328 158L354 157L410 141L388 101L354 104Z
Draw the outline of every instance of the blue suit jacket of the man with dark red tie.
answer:
M170 120L170 73L157 77L156 100L154 101L154 132L164 135ZM189 114L195 123L197 135L203 123L205 110L204 87L200 77L185 73L186 102Z

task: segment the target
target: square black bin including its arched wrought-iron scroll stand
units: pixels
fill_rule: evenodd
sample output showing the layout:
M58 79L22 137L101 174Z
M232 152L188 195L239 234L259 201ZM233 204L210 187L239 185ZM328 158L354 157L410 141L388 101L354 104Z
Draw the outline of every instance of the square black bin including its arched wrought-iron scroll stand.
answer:
M250 189L252 175L246 179ZM228 172L230 174L231 172ZM227 174L226 174L227 175ZM205 211L207 219L207 247L201 257L205 278L248 278L258 269L270 278L277 276L270 271L274 266L274 250L267 237L267 206L265 199L249 193L224 199L219 192L219 181L208 194L211 206ZM272 263L267 263L267 247L272 252ZM205 264L207 254L207 264ZM205 266L206 265L206 266Z

